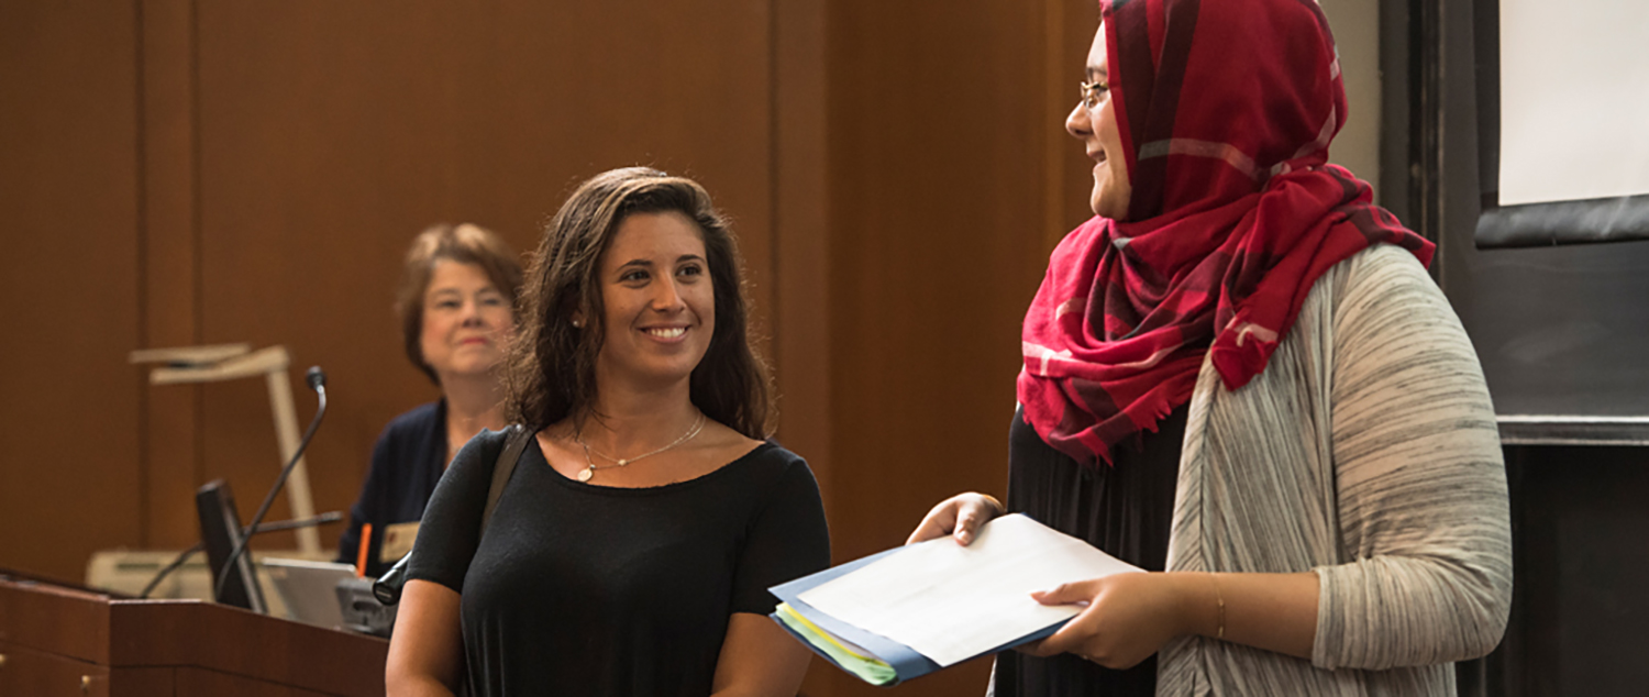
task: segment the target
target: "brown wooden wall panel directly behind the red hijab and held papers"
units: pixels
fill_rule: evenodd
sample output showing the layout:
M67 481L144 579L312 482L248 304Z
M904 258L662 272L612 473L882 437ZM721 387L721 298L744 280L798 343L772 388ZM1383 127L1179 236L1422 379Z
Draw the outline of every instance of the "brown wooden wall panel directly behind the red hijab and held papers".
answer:
M1052 242L1087 218L1092 165L1062 124L1095 15L1062 0L831 3L839 560L904 542L950 494L1004 493L1019 323ZM988 672L976 661L892 692L980 694ZM810 684L881 694L841 674Z

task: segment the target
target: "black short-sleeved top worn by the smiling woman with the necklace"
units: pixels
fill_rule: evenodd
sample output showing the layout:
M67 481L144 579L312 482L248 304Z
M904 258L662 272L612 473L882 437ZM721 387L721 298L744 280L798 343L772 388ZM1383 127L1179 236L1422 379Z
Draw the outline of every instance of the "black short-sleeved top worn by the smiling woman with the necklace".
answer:
M462 595L475 695L707 695L732 613L768 615L768 587L829 565L813 471L773 443L628 489L562 476L534 440L477 547L503 442L458 451L407 570Z

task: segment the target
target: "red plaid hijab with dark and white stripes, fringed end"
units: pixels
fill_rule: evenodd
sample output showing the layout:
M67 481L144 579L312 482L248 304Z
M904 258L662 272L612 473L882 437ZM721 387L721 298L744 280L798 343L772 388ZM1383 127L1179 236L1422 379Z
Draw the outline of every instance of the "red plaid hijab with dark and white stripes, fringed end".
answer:
M1314 0L1102 0L1128 221L1065 236L1024 321L1019 402L1080 463L1265 371L1311 285L1372 244L1433 246L1327 165L1346 124Z

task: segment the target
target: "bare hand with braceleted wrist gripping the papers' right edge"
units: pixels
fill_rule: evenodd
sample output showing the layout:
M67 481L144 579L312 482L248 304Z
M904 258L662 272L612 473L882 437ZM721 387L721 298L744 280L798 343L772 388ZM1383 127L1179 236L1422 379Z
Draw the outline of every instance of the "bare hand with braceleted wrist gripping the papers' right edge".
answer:
M1123 669L1144 661L1167 639L1194 631L1192 596L1179 573L1116 573L1031 593L1042 605L1087 603L1054 636L1021 646L1032 656L1077 654ZM1210 601L1212 606L1212 601Z

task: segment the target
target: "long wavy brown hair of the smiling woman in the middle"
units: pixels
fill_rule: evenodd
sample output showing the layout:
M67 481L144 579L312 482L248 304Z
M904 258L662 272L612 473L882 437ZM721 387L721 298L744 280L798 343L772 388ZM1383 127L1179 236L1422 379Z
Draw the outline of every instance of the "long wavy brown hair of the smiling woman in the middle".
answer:
M595 358L605 336L602 254L627 216L669 211L698 226L716 292L716 330L689 379L693 404L749 438L772 435L768 369L750 336L744 260L727 219L696 181L645 166L584 181L546 226L521 287L508 358L511 422L543 430L567 417L600 417L594 405ZM582 328L572 326L574 316L585 318Z

